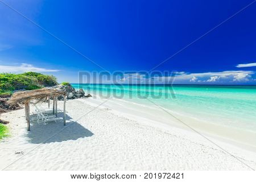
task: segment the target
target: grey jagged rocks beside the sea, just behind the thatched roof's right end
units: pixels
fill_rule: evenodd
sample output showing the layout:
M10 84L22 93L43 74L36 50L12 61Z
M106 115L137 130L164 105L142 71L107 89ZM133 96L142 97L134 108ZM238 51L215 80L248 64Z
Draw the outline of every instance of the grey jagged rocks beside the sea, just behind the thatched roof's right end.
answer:
M75 88L73 88L72 85L56 85L56 86L52 86L52 89L59 89L61 91L65 91L67 92L67 99L75 99L75 98L82 98L82 97L92 97L90 94L88 94L87 96L85 96L84 90L83 89L79 89L76 91ZM64 98L63 97L59 97L58 98L60 101L63 101Z

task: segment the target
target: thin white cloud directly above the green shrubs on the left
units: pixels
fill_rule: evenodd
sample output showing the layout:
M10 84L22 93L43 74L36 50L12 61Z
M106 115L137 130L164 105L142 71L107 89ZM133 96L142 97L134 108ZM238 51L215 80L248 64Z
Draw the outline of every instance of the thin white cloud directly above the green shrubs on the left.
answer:
M19 66L0 65L0 72L3 73L23 73L23 72L58 72L57 69L46 69L34 67L32 64L22 63Z

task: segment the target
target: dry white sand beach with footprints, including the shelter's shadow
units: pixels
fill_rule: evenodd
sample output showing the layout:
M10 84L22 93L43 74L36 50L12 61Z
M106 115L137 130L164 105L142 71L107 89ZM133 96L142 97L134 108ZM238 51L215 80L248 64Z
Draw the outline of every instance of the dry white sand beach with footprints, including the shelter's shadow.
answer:
M102 100L104 101L104 100ZM113 101L114 102L114 101ZM107 102L106 102L107 103ZM31 123L24 109L1 115L10 137L0 142L4 170L250 170L256 153L165 123L122 114L95 98L67 101L67 126ZM58 102L59 109L63 101ZM33 107L31 107L33 110ZM62 113L59 114L61 116ZM229 153L229 154L228 154ZM231 154L231 155L230 155ZM245 165L247 164L247 166Z

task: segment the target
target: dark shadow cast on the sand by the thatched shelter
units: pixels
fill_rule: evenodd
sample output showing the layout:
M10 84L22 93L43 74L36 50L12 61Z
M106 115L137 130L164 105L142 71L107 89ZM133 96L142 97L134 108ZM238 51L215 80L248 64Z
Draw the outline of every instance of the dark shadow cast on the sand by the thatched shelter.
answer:
M31 115L32 117L33 115ZM63 113L58 113L57 117L63 117ZM67 140L77 140L84 137L92 137L93 133L66 114L67 123L63 126L63 119L59 121L47 122L47 124L38 124L31 122L31 131L27 133L30 143L51 143L63 142Z

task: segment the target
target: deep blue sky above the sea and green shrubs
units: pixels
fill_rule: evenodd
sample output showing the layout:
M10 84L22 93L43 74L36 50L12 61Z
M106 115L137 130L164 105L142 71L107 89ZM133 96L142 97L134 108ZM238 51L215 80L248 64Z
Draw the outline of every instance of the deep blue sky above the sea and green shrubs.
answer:
M1 72L43 72L60 82L78 82L79 71L134 72L123 83L148 79L138 72L253 2L1 1L66 43L0 2ZM153 70L175 71L176 84L256 84L255 17L253 3Z

